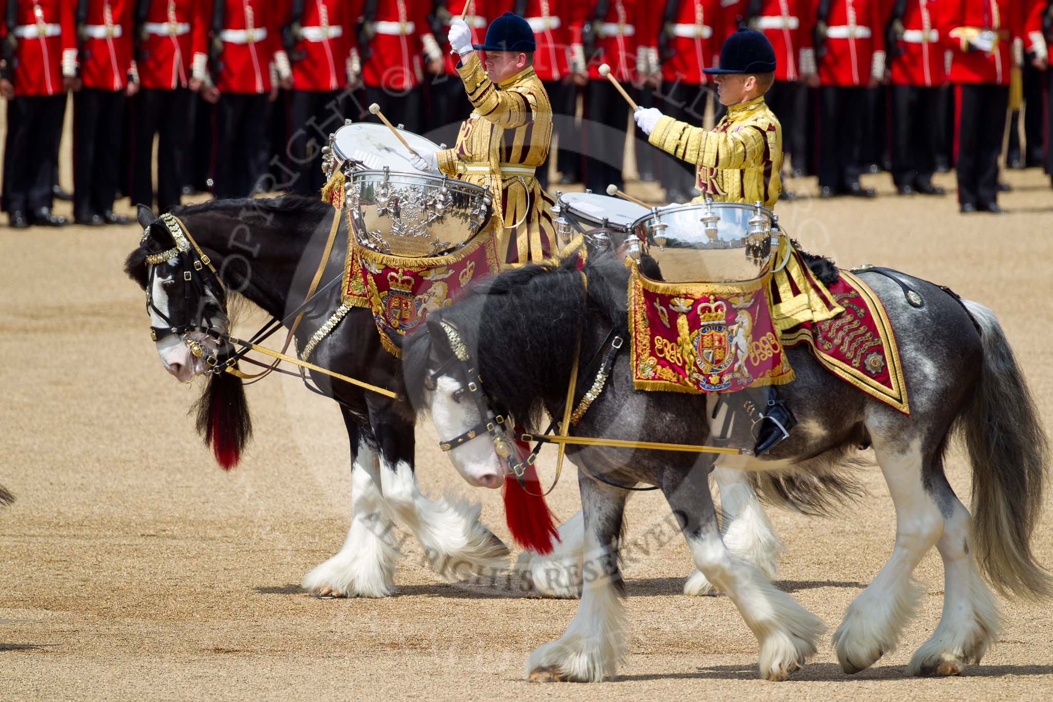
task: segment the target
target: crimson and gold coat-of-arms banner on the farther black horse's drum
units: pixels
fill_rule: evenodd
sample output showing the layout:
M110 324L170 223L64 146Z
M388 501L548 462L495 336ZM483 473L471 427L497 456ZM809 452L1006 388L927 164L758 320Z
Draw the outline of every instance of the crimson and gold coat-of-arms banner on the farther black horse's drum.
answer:
M347 246L342 302L369 307L383 347L400 358L388 333L405 335L417 328L430 310L457 300L476 280L496 275L494 227L473 237L462 248L432 258L389 256L359 245Z

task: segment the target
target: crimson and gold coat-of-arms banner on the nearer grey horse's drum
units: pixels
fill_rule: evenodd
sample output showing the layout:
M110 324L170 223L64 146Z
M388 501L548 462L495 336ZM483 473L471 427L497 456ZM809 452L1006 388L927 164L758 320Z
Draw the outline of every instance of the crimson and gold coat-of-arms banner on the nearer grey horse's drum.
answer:
M743 283L663 283L632 264L633 385L733 393L794 379L766 295L772 275Z

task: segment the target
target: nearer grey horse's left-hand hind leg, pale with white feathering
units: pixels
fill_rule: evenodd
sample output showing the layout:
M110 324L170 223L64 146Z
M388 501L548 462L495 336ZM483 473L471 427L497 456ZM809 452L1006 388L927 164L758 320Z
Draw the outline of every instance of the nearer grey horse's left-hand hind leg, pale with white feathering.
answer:
M896 507L896 543L885 567L849 605L834 633L837 658L849 674L870 667L896 647L918 604L911 574L943 533L943 517L921 480L921 467L932 448L922 447L921 437L907 443L898 433L868 428Z

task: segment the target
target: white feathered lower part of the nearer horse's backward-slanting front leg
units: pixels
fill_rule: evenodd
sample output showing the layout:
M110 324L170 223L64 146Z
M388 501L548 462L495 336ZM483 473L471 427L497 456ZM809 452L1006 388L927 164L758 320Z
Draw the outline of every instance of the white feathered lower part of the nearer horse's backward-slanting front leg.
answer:
M760 677L783 680L816 651L822 621L778 589L754 564L724 546L715 523L688 546L695 565L738 608L760 643Z

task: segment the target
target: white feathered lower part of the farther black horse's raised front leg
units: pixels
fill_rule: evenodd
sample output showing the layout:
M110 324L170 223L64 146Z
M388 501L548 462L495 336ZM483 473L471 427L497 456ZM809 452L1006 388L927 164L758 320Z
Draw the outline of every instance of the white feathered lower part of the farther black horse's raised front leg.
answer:
M479 522L481 505L428 499L405 461L389 465L381 458L380 485L389 508L413 531L440 573L464 578L471 573L494 575L508 567L508 548Z

